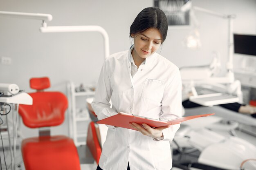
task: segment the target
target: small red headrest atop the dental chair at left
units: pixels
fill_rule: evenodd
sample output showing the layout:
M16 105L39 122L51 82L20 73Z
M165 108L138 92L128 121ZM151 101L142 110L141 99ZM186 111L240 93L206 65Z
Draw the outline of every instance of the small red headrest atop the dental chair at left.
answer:
M49 77L34 77L31 78L29 82L30 88L35 90L44 90L51 86Z

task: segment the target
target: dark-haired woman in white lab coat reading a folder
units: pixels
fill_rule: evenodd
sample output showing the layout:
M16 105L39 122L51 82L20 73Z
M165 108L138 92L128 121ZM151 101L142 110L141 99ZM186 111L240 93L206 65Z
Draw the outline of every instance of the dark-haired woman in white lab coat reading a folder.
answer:
M134 45L110 55L101 69L92 108L98 119L125 112L167 121L181 117L180 71L156 51L167 35L164 12L143 9L130 26ZM110 107L110 99L112 107ZM170 170L170 143L180 125L136 130L108 126L97 170Z

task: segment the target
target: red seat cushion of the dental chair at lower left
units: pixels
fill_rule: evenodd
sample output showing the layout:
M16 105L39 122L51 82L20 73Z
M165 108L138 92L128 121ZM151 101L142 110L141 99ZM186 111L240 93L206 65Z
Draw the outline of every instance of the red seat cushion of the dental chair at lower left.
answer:
M26 170L80 170L76 146L69 137L33 137L22 141Z

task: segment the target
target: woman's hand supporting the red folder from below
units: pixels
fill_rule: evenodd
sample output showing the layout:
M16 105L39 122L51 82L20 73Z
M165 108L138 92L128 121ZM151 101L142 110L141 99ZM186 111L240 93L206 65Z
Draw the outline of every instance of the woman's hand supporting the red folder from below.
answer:
M141 126L140 124L137 124L134 122L130 123L129 125L135 129L137 129L143 135L146 135L146 136L149 136L152 138L162 137L163 136L162 130L170 127L170 125L168 125L168 126L162 126L162 127L158 127L158 128L151 128L147 124L142 124L142 126Z

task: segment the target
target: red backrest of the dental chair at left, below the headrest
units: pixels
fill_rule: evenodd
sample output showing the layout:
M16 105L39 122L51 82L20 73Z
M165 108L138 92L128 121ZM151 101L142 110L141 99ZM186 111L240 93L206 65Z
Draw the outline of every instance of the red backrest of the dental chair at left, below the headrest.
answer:
M57 126L64 121L67 97L61 92L29 93L33 105L20 105L19 113L26 126L40 128Z

